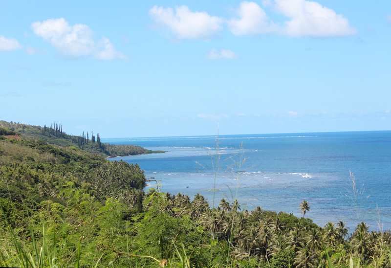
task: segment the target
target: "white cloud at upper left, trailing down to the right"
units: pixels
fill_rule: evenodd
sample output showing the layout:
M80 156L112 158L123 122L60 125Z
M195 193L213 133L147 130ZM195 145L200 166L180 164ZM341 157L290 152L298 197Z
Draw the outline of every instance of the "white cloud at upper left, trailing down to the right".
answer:
M125 55L115 50L107 38L97 44L93 40L92 30L85 24L70 26L64 18L49 19L31 24L36 35L46 41L63 55L80 57L92 55L97 59L125 59Z

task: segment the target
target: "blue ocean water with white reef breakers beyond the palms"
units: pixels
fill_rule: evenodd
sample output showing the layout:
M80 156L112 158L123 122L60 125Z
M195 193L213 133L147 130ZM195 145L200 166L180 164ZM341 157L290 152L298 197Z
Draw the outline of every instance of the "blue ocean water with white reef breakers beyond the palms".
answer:
M372 230L391 229L391 131L102 141L167 151L110 159L139 164L163 192L199 193L216 206L221 198L238 199L242 209L261 206L296 216L305 199L311 207L306 217L321 226L344 221L352 232L364 221ZM146 190L156 186L149 184Z

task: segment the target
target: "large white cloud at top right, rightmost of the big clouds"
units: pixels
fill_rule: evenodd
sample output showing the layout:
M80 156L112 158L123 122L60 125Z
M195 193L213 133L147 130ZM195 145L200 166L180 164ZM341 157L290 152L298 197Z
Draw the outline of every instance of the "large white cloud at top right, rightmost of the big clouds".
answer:
M274 7L291 19L281 28L282 34L288 36L333 37L356 32L346 18L318 2L275 0Z

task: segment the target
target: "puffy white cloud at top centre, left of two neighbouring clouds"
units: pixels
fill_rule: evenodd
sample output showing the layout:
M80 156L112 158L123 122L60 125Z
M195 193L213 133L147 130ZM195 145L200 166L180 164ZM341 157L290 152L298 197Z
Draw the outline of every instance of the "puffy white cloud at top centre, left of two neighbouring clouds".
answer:
M187 6L163 8L153 6L149 10L155 22L167 26L178 39L209 40L222 29L222 19L207 12L192 12Z

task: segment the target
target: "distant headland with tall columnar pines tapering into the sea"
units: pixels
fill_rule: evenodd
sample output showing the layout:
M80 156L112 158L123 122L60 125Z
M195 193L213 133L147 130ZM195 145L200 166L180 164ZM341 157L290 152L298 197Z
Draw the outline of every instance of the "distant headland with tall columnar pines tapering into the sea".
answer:
M53 122L50 127L31 126L26 124L0 121L0 128L10 130L16 134L22 134L26 138L39 139L49 144L59 145L62 147L73 146L83 149L89 153L99 154L101 156L133 156L141 154L163 153L163 151L150 151L136 145L115 145L101 142L99 133L95 136L88 132L75 136L66 134L63 126ZM6 134L3 134L6 135Z

